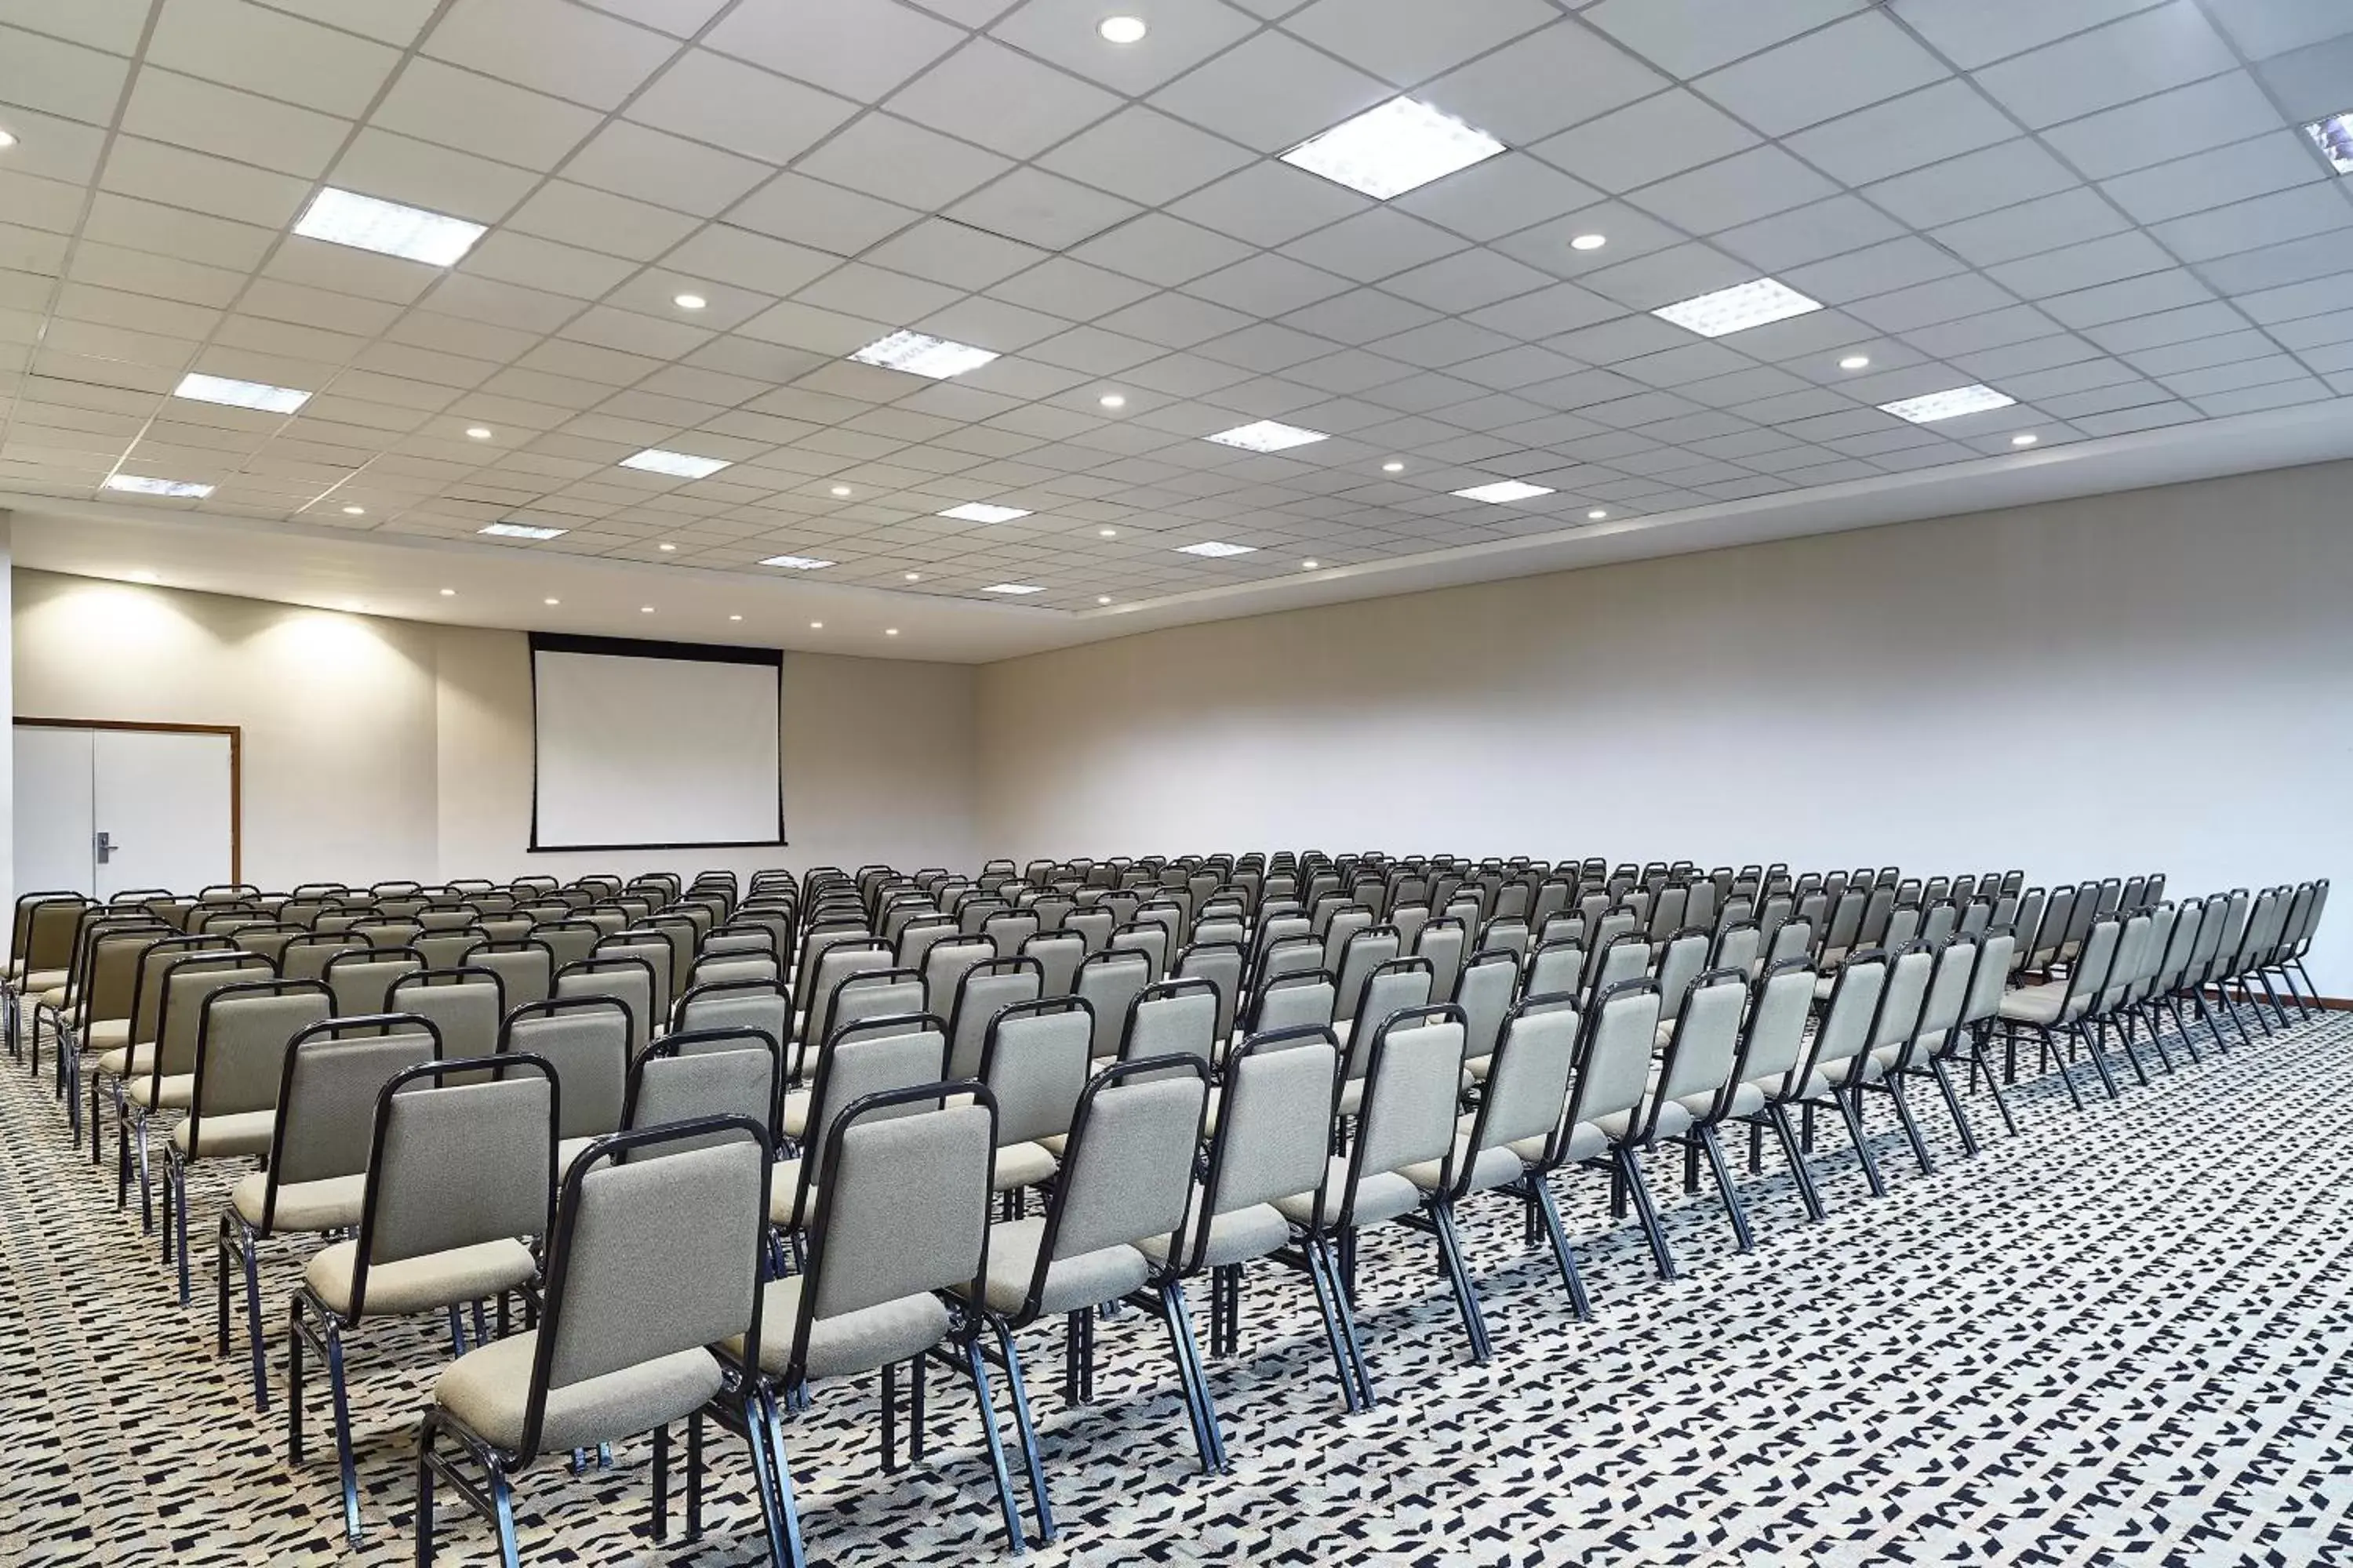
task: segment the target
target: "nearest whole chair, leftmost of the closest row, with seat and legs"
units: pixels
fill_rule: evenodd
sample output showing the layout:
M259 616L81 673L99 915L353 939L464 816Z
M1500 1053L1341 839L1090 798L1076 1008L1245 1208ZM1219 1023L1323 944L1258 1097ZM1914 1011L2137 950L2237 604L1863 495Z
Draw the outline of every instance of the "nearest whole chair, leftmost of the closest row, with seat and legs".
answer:
M416 1563L435 1556L449 1490L518 1561L513 1479L544 1453L654 1434L652 1533L668 1535L671 1427L687 1425L687 1535L701 1530L706 1410L725 1394L715 1345L760 1359L767 1138L753 1121L616 1133L562 1175L536 1328L492 1340L433 1380L416 1425ZM746 1422L755 1490L774 1521L772 1422ZM781 1540L776 1542L781 1547Z

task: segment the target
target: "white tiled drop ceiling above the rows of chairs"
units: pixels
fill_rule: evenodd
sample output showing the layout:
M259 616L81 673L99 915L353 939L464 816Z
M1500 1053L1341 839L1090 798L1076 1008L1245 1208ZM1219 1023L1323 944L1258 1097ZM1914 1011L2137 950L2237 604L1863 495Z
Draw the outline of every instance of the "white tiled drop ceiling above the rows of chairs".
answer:
M1400 96L1504 150L1282 162ZM984 658L2320 461L2346 108L2341 0L0 0L0 505L61 569ZM322 188L487 233L294 235ZM1760 277L1821 308L1652 315ZM995 357L849 360L894 331ZM1259 421L1325 440L1205 440Z

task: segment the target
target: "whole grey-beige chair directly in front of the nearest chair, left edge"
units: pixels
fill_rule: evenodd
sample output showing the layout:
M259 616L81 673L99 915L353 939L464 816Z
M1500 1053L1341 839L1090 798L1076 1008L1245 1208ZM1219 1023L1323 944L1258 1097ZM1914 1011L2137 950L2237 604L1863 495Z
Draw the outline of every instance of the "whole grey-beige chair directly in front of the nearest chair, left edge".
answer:
M461 1081L478 1079L478 1081ZM304 1462L304 1352L327 1368L344 1490L344 1537L362 1544L344 1345L374 1319L447 1314L466 1354L461 1307L487 1342L482 1302L539 1281L527 1241L551 1229L555 1070L529 1056L452 1058L395 1072L369 1124L360 1227L304 1262L287 1326L287 1462Z

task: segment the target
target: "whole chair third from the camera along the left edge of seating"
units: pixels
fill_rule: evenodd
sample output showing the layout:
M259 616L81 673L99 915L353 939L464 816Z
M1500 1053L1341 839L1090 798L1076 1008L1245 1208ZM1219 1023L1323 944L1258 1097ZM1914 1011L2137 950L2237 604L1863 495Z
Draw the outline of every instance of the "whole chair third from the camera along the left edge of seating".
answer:
M216 1352L228 1354L231 1265L245 1281L254 1408L271 1408L261 1338L261 1241L329 1237L360 1222L369 1128L386 1084L440 1060L428 1018L372 1013L304 1025L285 1044L268 1159L238 1178L214 1239Z

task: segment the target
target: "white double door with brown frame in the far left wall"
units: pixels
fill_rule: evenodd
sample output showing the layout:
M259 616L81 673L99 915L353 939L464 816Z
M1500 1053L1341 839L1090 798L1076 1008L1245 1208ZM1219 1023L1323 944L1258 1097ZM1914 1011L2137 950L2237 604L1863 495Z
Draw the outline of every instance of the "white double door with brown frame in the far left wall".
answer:
M16 726L16 877L26 891L193 893L231 882L228 736Z

